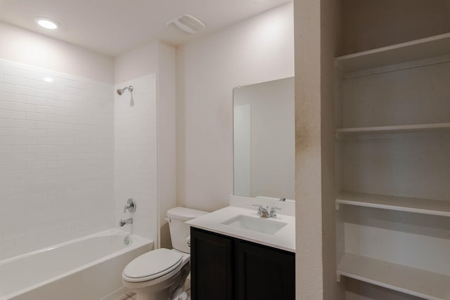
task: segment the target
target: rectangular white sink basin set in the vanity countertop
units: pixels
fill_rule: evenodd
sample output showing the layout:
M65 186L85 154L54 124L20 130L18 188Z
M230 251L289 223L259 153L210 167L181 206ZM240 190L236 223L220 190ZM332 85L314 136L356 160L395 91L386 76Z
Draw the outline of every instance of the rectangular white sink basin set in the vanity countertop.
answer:
M288 223L274 221L266 218L255 218L253 216L244 216L242 214L235 216L229 220L222 222L224 225L229 225L237 228L257 231L259 233L266 233L273 235Z

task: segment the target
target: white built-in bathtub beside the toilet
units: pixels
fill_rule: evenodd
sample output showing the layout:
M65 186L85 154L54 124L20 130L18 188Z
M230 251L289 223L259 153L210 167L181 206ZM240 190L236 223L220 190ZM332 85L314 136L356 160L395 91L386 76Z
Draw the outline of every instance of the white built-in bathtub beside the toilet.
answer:
M115 299L127 292L124 267L151 249L152 240L111 229L15 256L0 261L0 299Z

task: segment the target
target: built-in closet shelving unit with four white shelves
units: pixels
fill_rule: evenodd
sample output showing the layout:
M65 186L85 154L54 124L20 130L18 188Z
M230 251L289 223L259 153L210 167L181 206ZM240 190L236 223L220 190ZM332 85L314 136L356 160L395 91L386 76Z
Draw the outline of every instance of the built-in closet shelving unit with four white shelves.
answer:
M338 280L450 300L450 33L335 66Z

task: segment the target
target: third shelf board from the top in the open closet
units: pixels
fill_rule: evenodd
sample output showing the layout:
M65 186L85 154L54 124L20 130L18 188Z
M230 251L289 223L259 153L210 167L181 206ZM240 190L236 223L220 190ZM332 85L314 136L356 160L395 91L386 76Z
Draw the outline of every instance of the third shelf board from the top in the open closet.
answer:
M337 209L340 204L450 216L450 201L444 200L345 192L336 197Z

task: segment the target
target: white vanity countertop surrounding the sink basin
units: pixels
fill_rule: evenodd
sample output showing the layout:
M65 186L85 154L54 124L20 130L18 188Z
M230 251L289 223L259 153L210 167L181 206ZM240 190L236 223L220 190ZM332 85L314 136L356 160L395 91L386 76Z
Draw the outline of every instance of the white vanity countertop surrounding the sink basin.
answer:
M212 231L213 233L221 233L223 235L229 235L231 237L237 237L241 240L248 240L250 242L256 242L258 244L265 244L266 246L283 249L289 252L295 252L295 217L287 216L285 214L277 214L276 218L270 218L269 220L280 221L287 223L286 226L281 228L274 235L266 233L259 233L254 230L248 230L222 224L235 216L257 216L256 209L245 209L240 207L225 207L217 211L213 211L210 214L199 216L191 221L186 221L189 225L204 230Z

